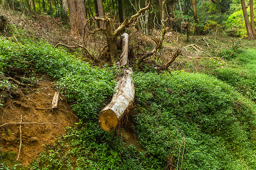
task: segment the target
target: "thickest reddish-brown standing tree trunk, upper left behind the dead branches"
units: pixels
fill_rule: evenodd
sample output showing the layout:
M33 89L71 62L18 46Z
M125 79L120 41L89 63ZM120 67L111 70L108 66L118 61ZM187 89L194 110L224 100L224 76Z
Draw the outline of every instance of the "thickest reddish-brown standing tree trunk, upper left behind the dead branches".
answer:
M68 0L69 25L71 34L82 36L86 23L84 0Z

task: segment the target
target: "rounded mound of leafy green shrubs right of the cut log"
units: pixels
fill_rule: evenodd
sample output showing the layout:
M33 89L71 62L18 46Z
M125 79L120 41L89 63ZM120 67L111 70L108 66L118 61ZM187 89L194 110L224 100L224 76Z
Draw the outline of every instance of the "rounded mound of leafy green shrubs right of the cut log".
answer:
M255 105L205 74L138 73L134 130L160 165L183 169L254 169ZM239 154L238 154L239 153ZM170 156L171 155L171 156Z

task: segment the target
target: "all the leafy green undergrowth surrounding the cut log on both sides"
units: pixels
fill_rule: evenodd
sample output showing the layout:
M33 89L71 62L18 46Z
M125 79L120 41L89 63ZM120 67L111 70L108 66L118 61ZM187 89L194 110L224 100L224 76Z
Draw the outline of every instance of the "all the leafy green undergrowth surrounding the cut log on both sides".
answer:
M1 90L16 88L4 76L17 71L48 74L81 117L26 169L255 169L254 49L228 58L233 65L214 69L216 77L136 71L132 128L138 150L117 131L107 133L98 125L98 112L113 93L116 67L98 68L45 42L25 42L1 38Z

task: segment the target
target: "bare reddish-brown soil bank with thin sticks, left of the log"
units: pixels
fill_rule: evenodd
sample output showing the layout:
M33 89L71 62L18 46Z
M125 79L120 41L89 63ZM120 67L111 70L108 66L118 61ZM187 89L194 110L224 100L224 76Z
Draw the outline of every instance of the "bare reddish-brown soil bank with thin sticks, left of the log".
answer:
M77 122L73 116L65 97L60 95L58 107L50 108L55 84L49 78L44 77L38 86L32 88L17 88L10 92L0 108L0 125L6 122L51 122L57 125L22 125L22 148L20 162L22 165L30 164L31 160L39 156L40 151L49 143L53 144L57 137L65 133L67 126ZM35 90L39 88L40 90ZM0 94L3 91L0 91ZM18 156L20 125L5 125L0 127L0 150L1 152L14 152Z

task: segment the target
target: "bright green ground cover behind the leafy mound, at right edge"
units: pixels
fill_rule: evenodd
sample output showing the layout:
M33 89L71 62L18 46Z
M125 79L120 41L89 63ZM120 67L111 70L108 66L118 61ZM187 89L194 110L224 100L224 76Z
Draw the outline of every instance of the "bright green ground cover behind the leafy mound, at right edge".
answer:
M256 101L256 49L247 49L238 53L232 49L229 51L233 55L229 58L230 65L215 69L213 75L232 85L244 96Z

